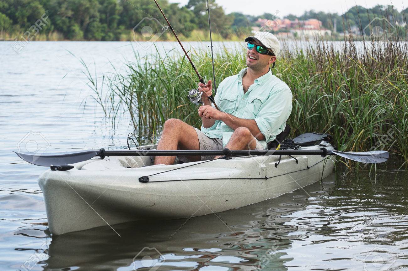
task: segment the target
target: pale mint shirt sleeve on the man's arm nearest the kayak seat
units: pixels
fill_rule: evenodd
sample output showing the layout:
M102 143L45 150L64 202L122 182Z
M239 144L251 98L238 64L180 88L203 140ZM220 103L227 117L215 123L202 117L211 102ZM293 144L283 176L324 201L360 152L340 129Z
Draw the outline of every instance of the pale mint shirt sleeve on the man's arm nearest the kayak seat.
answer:
M286 126L286 120L292 111L292 92L288 87L273 92L261 105L255 122L265 141L275 140Z

